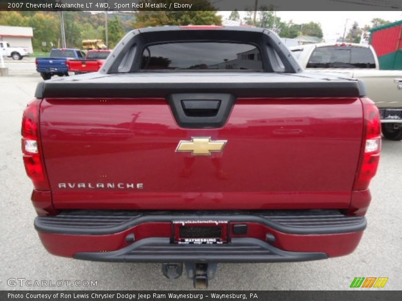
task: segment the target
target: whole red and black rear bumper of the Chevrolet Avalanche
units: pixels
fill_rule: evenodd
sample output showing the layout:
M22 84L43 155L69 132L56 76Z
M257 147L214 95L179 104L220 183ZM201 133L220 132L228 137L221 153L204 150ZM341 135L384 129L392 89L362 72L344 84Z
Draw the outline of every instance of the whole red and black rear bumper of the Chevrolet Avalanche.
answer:
M228 221L224 244L172 243L172 221ZM247 225L235 234L234 226ZM65 211L37 217L52 254L124 262L285 262L342 256L358 245L366 219L336 210L264 212ZM134 237L134 239L133 239Z

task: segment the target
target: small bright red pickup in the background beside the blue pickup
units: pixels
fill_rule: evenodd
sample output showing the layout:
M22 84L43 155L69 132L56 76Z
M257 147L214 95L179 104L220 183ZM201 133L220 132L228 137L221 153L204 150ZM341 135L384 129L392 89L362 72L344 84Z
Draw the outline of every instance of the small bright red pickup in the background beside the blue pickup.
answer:
M110 53L111 50L89 50L84 60L67 60L68 71L74 74L96 72Z

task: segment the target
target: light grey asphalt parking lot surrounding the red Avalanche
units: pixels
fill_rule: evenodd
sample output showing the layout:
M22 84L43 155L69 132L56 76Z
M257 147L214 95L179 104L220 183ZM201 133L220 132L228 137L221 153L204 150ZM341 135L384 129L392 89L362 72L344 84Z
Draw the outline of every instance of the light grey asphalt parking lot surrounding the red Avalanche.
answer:
M60 289L190 289L184 274L170 281L159 264L99 263L48 254L33 227L32 184L21 154L21 117L42 80L32 59L6 60L10 76L0 77L0 289L46 289L9 286L10 278L97 280L97 286ZM402 283L402 142L382 141L378 174L371 184L368 227L354 253L323 261L275 264L221 264L211 289L349 289L354 277L389 277L383 289ZM55 287L47 287L55 289ZM56 287L57 288L57 287Z

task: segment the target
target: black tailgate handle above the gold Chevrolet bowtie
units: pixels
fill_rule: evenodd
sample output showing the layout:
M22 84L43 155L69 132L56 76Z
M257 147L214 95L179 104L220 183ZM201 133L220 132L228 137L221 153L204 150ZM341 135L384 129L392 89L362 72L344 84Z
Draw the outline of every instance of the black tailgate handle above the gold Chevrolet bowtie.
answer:
M211 117L218 114L221 106L220 100L215 99L197 99L197 100L181 100L184 114L191 117Z

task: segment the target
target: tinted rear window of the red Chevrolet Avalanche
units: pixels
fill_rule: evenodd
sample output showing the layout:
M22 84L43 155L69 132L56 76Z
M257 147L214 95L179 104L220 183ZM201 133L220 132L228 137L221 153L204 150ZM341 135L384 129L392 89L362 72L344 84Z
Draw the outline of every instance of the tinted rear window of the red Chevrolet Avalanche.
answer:
M144 49L142 70L262 70L261 53L250 44L191 42Z

